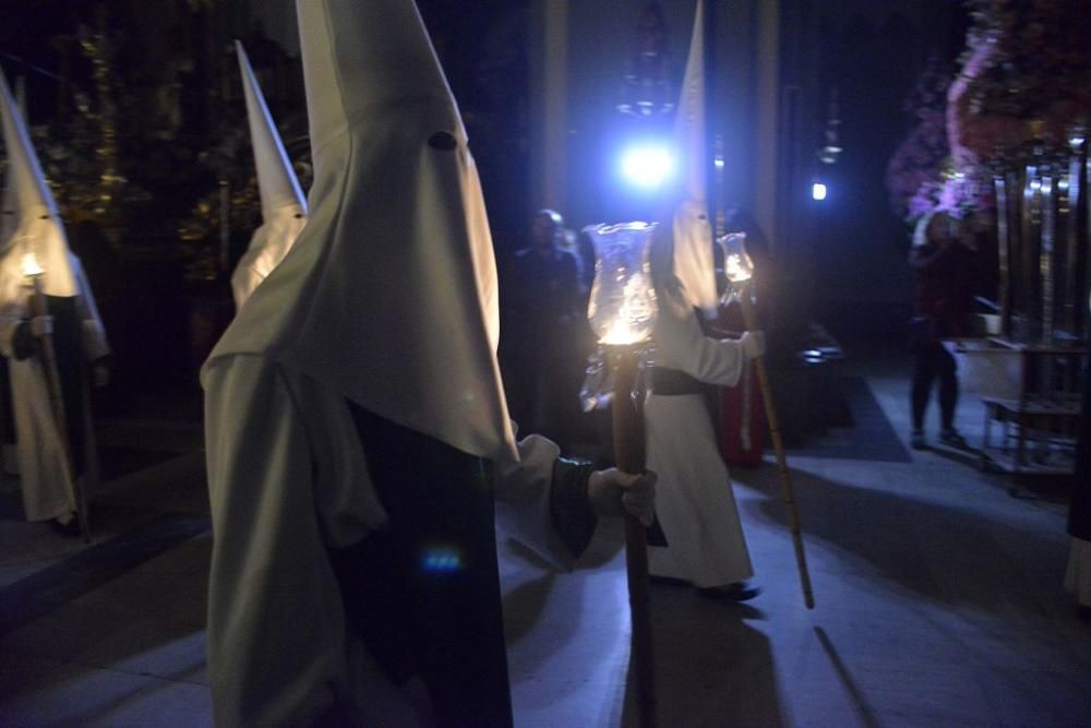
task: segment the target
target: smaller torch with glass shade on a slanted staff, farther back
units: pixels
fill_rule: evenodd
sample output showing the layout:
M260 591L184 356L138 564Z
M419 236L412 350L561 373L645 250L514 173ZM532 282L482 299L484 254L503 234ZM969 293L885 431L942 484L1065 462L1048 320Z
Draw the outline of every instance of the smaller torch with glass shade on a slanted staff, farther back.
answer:
M723 274L730 284L731 295L738 298L743 310L743 321L746 331L757 331L754 318L754 303L751 299L751 282L754 278L754 262L746 253L746 234L729 232L717 239L723 249ZM769 387L769 375L765 370L765 359L754 360L757 367L757 379L762 387L762 399L765 403L765 415L769 421L769 435L772 449L777 454L777 469L780 472L780 484L788 509L789 525L792 532L792 546L795 548L795 563L800 569L800 585L803 587L803 601L807 609L814 609L815 598L811 590L811 574L807 573L806 553L803 551L803 536L800 532L800 516L795 510L795 497L792 491L791 475L788 470L788 460L784 457L784 443L780 438L780 425L777 422L777 410L772 403L772 390Z

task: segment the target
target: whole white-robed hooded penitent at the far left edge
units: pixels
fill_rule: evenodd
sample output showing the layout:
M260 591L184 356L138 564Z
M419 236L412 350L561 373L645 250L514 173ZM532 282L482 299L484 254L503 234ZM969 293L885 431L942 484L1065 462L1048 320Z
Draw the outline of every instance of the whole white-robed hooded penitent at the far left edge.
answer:
M41 357L34 354L20 359L15 350L16 333L32 315L32 290L27 285L24 263L33 260L40 266L40 283L46 296L58 305L67 305L71 309L70 314L74 313L73 325L77 330L72 333L73 338L79 339L75 346L80 349L77 357L83 361L94 361L108 355L109 347L91 287L79 260L68 249L52 194L2 75L0 117L15 212L14 231L7 240L0 240L0 354L8 358L11 377L23 508L28 521L45 521L75 511L72 479L76 474L71 473L64 454ZM55 323L58 356L64 348L57 341L62 336L62 326L60 320ZM74 371L73 375L79 378L80 362L68 363L70 366L63 369ZM89 414L86 402L79 394L80 389L62 385L62 390L75 393L65 397L67 417L72 420L69 428L80 428L84 435L82 440L89 466L94 462L94 441ZM91 472L89 467L84 469L85 473Z

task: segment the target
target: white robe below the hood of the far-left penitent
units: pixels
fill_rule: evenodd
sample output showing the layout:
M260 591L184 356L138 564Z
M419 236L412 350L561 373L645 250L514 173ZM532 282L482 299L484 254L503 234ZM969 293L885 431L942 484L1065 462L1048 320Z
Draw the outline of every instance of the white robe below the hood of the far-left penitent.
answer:
M95 299L87 285L83 266L75 255L69 255L75 279L76 312L82 324L83 356L94 361L110 353L106 331L98 317ZM31 289L17 265L0 265L0 351L8 357L11 378L12 415L15 420L19 453L20 486L27 521L47 521L75 511L72 499L72 474L64 456L60 430L53 418L41 358L34 356L17 361L12 351L12 336L19 323L29 317ZM91 411L83 410L86 420L87 470L84 486L94 481L95 440L91 428Z

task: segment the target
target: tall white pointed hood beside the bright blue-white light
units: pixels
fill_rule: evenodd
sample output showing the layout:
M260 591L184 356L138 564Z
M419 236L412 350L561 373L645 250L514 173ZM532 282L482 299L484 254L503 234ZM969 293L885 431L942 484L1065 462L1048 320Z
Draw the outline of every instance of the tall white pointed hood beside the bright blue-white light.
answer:
M707 164L705 138L705 22L704 3L697 0L690 41L690 58L682 81L674 121L674 144L681 169L681 201L674 210L671 230L674 241L674 275L685 285L693 306L707 315L716 314L716 263L712 258L712 227L708 220Z

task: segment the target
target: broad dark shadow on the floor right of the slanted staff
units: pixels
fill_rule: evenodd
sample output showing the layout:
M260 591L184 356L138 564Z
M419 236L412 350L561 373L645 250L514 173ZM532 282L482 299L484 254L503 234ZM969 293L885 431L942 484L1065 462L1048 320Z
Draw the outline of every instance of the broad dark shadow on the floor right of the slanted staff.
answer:
M759 505L764 516L787 524L771 465L733 475L766 496ZM1060 588L1068 550L1064 533L1023 528L973 510L799 470L792 482L804 538L820 539L842 558L865 561L894 585L985 612L1070 611Z

